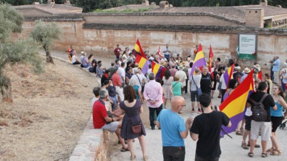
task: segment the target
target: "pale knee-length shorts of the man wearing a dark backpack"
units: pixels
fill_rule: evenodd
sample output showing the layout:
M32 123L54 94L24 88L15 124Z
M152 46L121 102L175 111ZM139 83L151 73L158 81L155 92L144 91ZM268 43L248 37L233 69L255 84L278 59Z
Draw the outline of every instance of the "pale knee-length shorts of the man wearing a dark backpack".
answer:
M261 129L261 140L269 141L271 137L271 122L256 122L251 120L250 139L256 140Z

